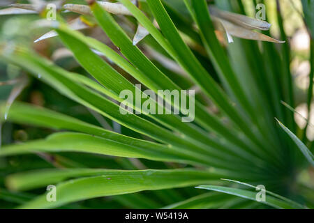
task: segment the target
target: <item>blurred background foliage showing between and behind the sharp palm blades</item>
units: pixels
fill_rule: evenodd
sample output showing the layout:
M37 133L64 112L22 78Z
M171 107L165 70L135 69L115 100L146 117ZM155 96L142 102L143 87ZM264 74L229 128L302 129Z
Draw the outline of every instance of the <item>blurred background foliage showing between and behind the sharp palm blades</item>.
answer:
M27 3L27 1L17 2ZM149 11L149 7L145 5L145 1L140 2L144 2L144 6L142 7L145 8L146 6L146 8L148 8L147 15L151 15L152 13ZM313 98L314 1L279 0L281 4L281 20L283 20L283 24L278 22L280 17L278 17L278 8L275 0L209 1L210 4L215 3L220 9L230 10L234 13L246 14L251 17L255 17L256 3L262 2L266 4L267 21L272 24L270 32L267 33L267 31L265 31L264 33L274 36L274 38L277 39L287 40L286 45L260 43L253 40L242 40L239 38L234 38L234 43L227 44L224 37L222 38L223 40L220 41L220 44L223 46L223 52L227 53L232 69L234 73L237 73L237 78L240 79L239 84L243 87L243 91L245 95L248 96L249 102L253 105L254 103L257 103L255 101L256 98L254 97L262 98L262 107L263 109L264 107L268 109L267 112L269 113L267 116L270 117L267 117L269 119L265 119L268 121L274 120L274 117L281 119L281 121L283 121L283 123L290 128L290 130L292 130L292 132L296 134L297 137L299 137L313 153L314 137L312 139L311 135L314 135L314 129L311 125L311 117L309 117L308 114L311 113ZM67 3L86 4L86 1L67 1ZM190 15L188 8L186 8L184 1L165 0L163 3L175 25L178 28L182 28L180 29L181 37L186 40L186 43L191 43L188 46L193 51L197 60L200 61L200 64L204 67L206 72L211 74L211 77L215 80L215 82L218 83L219 86L223 87L223 81L220 78L219 68L217 68L214 59L207 54L207 46L204 42L202 42L200 34L197 32L198 30L192 29L192 26L190 26L193 22L193 17ZM7 3L3 3L1 5L3 8L4 6L7 6ZM176 15L179 15L179 19ZM77 17L77 14L66 13L64 17L66 18L66 21L70 21ZM65 56L61 56L57 59L54 58L54 56L56 56L57 49L63 48L63 43L59 37L49 38L47 40L40 41L39 43L33 43L34 40L51 29L50 27L33 27L33 22L39 18L40 17L38 15L1 15L0 43L6 43L6 46L10 46L12 44L32 48L41 57L54 61L57 66L95 80L93 75L80 66L80 63L77 62L72 54L67 54L68 52L66 52ZM137 24L137 21L133 17L114 15L114 19L119 22L128 36L133 36L136 31ZM308 36L304 21L308 26L308 30L312 33L312 37ZM284 35L283 31L285 31ZM117 47L115 47L112 43L114 41L104 35L100 27L87 29L82 31L82 33L84 33L85 36L91 36L103 41L103 43L110 46L116 52L119 52ZM298 35L301 35L301 38L299 37L298 39ZM194 37L196 40L193 39ZM303 46L305 45L305 47L300 47L300 41L303 43ZM306 41L308 41L308 43ZM165 63L164 59L172 59L171 55L168 54L169 52L165 52L163 47L158 45L155 38L147 36L147 38L140 43L139 48L145 55L149 56L149 59L151 59L154 65L158 67L161 72L163 72L172 80L172 82L180 86L182 89L190 89L195 86L195 83L190 77L188 77L188 75L186 75L185 71L182 71L182 69L177 70L178 66L174 60L172 60L172 66L167 66L168 63ZM154 53L161 54L163 56L163 60L160 61L156 54L153 55L151 53L152 51ZM133 84L138 83L138 81L132 77L132 75L128 74L128 72L125 72L116 64L111 63L112 61L110 61L110 59L105 58L104 61L110 63L114 70L117 70ZM173 63L176 66L173 66ZM307 64L305 68L302 67L302 64L304 63ZM254 76L252 76L253 74ZM95 112L91 112L90 108L87 108L80 102L71 100L66 97L64 93L56 90L54 87L50 86L50 84L43 82L43 78L40 74L36 74L36 77L36 75L29 75L29 72L13 65L13 63L6 63L3 61L0 63L0 82L17 79L20 75L27 75L27 77L29 77L29 84L22 91L22 93L18 95L16 98L17 101L27 102L32 105L38 105L40 107L51 109L55 112L60 112L61 114L67 114L68 116L77 118L86 123L96 125L100 128L106 128L107 130L112 130L135 139L144 139L146 141L156 142L156 139L152 139L154 137L144 135L136 130L131 130L124 125L120 125L119 123L112 121L110 118L107 118L102 114L95 114ZM291 77L291 82L287 84L291 84L291 90L293 91L292 98L290 98L290 102L293 104L289 105L292 106L292 109L297 109L300 105L306 104L305 109L303 109L300 113L302 116L305 116L305 119L310 121L310 125L306 124L303 128L301 128L301 125L298 123L298 118L294 117L299 115L295 112L291 112L285 106L280 104L280 101L283 100L283 98L289 98L289 95L285 95L287 91L285 88L287 88L287 85L283 84L284 82L286 83L286 81L289 81L287 80L288 76ZM269 86L264 83L267 79L269 81L267 83ZM254 89L255 86L251 86L251 82L257 84L257 89ZM306 87L304 89L300 87L303 82L306 83ZM5 102L12 90L13 85L8 84L0 86L0 101ZM256 92L256 95L253 95L254 92ZM233 95L229 94L229 96L232 98ZM107 95L103 97L109 98ZM242 134L239 128L234 128L230 118L225 114L225 112L221 111L219 106L217 106L213 100L210 100L209 97L207 97L206 93L200 90L198 91L196 98L202 105L208 107L210 113L215 114L221 123L226 124L232 131L234 130L234 132L237 133L239 131L239 134ZM264 105L263 102L267 103L267 105ZM263 115L264 113L257 108L254 116L258 118ZM156 120L152 120L144 115L141 117L151 123L156 123L158 126L165 128L164 125L158 123ZM25 118L25 120L26 119L27 118ZM266 123L265 126L267 127L268 124L269 123ZM5 123L1 123L1 125L2 146L27 142L33 139L44 139L54 132L59 132L47 127L45 128L30 125L27 124L26 121L25 123L6 121ZM200 127L198 123L195 125ZM248 123L248 125L251 125L251 123ZM274 123L271 123L271 127L269 129L264 128L263 126L265 132L262 133L265 135L273 134L273 132L271 132L274 128L273 125L277 126ZM165 129L168 130L168 128ZM306 134L307 131L310 131L310 133ZM265 168L266 171L264 172L263 169L262 173L268 173L271 176L271 179L266 178L265 180L263 178L264 176L262 176L261 179L255 181L252 180L253 182L251 183L254 185L255 183L264 183L267 186L269 185L270 189L274 192L297 201L302 205L306 205L308 208L314 208L313 167L308 166L308 164L304 162L304 157L302 157L299 152L294 151L295 145L291 142L291 139L287 135L283 134L283 132L280 132L278 129L276 129L275 132L275 137L278 137L278 139L281 140L280 142L282 142L282 144L279 145L281 148L277 151L279 151L278 155L283 158L283 160L281 160L283 161L283 167L275 169L275 172L273 172L274 169ZM175 134L177 133L174 133L174 135ZM215 134L216 133L214 133L214 135ZM256 133L252 131L252 134L257 135L258 137L260 132L257 131ZM223 140L225 139L221 138L221 141ZM292 146L292 144L294 146ZM269 151L272 149L271 146L274 146L274 144L267 144L267 142L265 142L265 147L267 147ZM275 147L276 146L274 146L274 148ZM287 149L287 153L284 153L285 148ZM274 149L274 151L276 152L276 149ZM276 159L274 158L274 160ZM285 162L285 160L287 162ZM35 188L27 192L14 192L9 190L10 188L7 188L8 185L5 182L5 178L10 176L10 174L36 169L63 169L65 167L89 169L163 170L177 168L184 169L184 167L192 167L192 165L182 163L178 164L177 162L158 162L158 160L154 161L75 152L40 152L27 155L0 157L0 208L15 208L16 206L27 203L27 201L31 201L39 194L43 194L45 192L44 187ZM186 178L188 179L193 177L187 176ZM278 181L275 181L274 178L278 178ZM269 182L270 180L274 180L274 182ZM220 181L215 183L217 185L226 185ZM230 195L225 196L225 194L223 194L223 196L219 197L220 195L217 195L218 193L214 194L215 192L210 192L209 197L212 196L211 194L214 194L214 197L218 196L216 197L216 204L207 202L202 203L203 201L207 201L207 192L204 192L203 190L196 190L195 188L190 187L192 185L179 189L172 189L169 187L170 189L167 190L147 190L133 194L98 197L85 201L77 201L75 203L66 203L65 205L62 204L58 208L162 208L171 204L174 207L193 208L195 202L199 202L195 205L197 208L269 208L269 206L264 206L260 203L256 204L253 201L245 201L244 199L239 199ZM283 185L285 185L285 188L283 188ZM125 183L125 187L128 187L128 182ZM188 199L195 200L190 201ZM183 203L179 203L180 201ZM219 201L221 203L219 203ZM204 206L201 204L204 204Z

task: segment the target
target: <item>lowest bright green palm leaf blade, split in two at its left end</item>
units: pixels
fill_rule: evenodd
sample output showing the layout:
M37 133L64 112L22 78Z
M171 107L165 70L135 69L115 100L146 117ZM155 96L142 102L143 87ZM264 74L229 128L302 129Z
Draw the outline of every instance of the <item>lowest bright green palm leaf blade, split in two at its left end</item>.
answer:
M145 171L65 169L34 171L29 174L11 176L8 178L8 185L13 188L26 189L82 176L86 177L68 180L57 185L58 199L56 202L48 202L46 194L43 194L20 208L55 208L65 203L95 197L128 194L142 190L187 187L214 182L222 174L194 169Z

